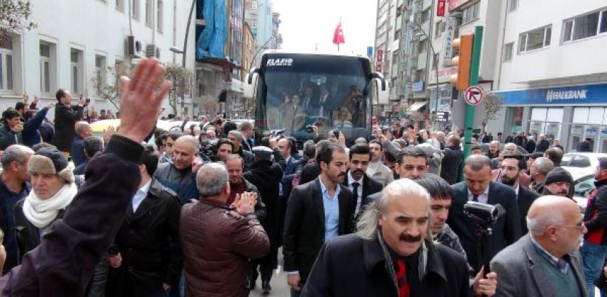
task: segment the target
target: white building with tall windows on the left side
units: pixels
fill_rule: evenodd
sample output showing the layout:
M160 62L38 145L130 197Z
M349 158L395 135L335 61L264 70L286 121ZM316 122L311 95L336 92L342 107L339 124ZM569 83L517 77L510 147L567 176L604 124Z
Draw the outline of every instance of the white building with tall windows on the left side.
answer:
M191 1L186 0L31 0L37 28L24 31L0 48L0 109L14 107L22 93L39 106L56 102L59 88L91 98L95 110L116 108L97 95L93 78L114 84L107 67L156 56L181 65ZM186 48L186 68L194 69L194 18ZM174 113L165 101L163 115ZM182 107L177 107L181 114ZM49 112L54 118L54 112Z

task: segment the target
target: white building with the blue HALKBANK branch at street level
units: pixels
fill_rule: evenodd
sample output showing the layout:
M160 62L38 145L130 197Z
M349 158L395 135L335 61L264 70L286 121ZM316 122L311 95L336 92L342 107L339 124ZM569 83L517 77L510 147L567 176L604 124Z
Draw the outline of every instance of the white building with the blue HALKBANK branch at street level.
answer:
M506 106L488 130L561 140L607 152L607 3L508 0L502 4L495 80Z

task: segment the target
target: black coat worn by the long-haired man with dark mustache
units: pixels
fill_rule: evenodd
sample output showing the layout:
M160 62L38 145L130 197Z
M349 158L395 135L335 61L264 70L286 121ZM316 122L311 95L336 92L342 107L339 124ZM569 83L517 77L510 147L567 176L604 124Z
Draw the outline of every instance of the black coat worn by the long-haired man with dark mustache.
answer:
M466 259L441 244L427 245L426 276L416 296L468 296ZM394 271L388 267L379 240L350 234L328 241L301 293L301 297L316 296L398 297Z

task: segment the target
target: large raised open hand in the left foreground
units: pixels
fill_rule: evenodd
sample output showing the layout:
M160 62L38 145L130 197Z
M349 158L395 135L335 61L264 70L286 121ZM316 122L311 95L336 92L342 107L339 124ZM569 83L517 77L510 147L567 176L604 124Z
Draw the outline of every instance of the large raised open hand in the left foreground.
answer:
M132 78L120 78L121 124L117 134L142 142L156 127L162 99L171 88L171 82L164 80L160 89L156 90L163 73L164 67L158 59L142 58Z

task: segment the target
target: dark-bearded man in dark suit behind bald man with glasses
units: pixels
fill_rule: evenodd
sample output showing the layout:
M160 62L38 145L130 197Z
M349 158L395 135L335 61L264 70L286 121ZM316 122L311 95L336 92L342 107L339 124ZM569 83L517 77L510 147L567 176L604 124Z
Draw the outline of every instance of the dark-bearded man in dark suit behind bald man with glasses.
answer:
M501 183L512 187L516 192L516 202L518 206L518 214L521 218L521 234L527 234L527 212L535 199L540 197L536 192L523 187L518 182L518 177L522 170L526 169L526 162L521 155L512 152L505 152L503 161L501 162Z

